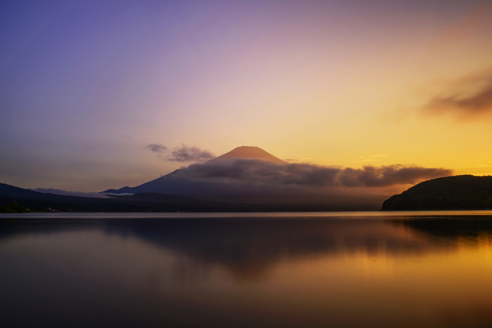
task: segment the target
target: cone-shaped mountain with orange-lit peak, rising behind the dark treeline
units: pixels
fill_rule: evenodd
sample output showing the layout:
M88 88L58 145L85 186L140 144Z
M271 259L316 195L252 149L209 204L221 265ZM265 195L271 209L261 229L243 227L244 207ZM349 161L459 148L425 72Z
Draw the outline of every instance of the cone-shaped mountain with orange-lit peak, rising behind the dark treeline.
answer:
M191 164L135 187L108 189L106 194L162 193L195 199L267 205L302 204L303 209L377 210L387 196L324 188L335 169L288 164L258 147L238 147L203 164ZM260 205L261 204L261 205ZM301 205L299 205L301 207ZM274 207L270 207L274 208ZM308 209L309 210L309 209Z

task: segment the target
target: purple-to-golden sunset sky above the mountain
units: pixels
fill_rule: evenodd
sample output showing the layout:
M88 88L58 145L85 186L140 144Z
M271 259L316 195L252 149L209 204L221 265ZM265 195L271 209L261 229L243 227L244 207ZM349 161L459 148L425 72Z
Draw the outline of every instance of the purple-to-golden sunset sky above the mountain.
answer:
M491 35L482 0L1 1L0 182L117 189L239 146L490 175Z

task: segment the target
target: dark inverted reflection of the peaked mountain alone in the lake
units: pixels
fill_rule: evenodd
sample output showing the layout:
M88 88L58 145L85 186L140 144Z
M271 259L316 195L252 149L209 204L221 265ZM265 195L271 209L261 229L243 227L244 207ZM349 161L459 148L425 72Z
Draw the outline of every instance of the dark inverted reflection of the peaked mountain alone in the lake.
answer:
M157 227L156 227L157 225ZM286 258L420 248L382 221L346 219L194 219L138 221L132 233L205 266L251 279Z

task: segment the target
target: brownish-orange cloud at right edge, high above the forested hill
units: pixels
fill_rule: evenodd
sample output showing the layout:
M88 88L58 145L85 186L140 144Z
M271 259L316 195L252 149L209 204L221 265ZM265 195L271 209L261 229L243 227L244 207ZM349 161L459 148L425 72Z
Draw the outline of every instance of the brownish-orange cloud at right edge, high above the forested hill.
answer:
M459 118L492 113L492 71L461 77L447 89L446 95L435 96L424 106L424 113L452 114Z

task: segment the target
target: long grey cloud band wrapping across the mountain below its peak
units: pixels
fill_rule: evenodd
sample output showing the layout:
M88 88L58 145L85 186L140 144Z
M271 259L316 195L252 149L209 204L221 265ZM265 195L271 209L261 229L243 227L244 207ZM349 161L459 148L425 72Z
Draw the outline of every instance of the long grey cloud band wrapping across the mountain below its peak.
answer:
M175 178L305 187L386 187L449 176L452 170L419 166L364 166L361 169L307 163L279 165L259 159L222 160L181 168Z

